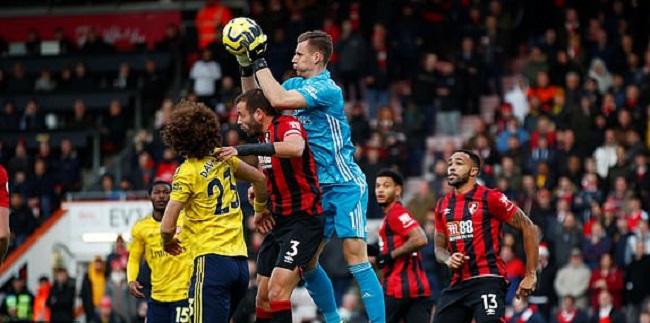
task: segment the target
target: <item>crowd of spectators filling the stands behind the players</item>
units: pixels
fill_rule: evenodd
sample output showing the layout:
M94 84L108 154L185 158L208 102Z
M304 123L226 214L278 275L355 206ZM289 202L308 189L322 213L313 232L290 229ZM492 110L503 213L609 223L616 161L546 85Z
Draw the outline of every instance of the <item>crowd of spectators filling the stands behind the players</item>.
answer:
M180 62L181 75L173 68L158 70L153 60L137 73L121 65L95 75L83 60L38 75L27 75L20 62L12 70L0 70L0 95L8 98L19 92L136 90L145 127L134 129L132 110L126 112L119 102L88 113L84 102L77 101L72 114L52 116L39 112L37 101L16 106L6 100L0 129L100 129L105 155L131 152L121 178L103 175L99 189L107 198L146 189L156 178L171 180L182 161L159 135L178 99L178 94L168 97L161 89L173 88L176 76L181 79L180 96L214 107L222 120L224 145L247 140L232 109L240 92L237 63L213 33L233 12L208 2L197 14L197 44L188 44L188 35L170 26L157 45ZM540 228L540 283L527 301L513 299L524 276L521 237L506 228L503 238L501 256L512 281L512 322L567 322L574 317L650 322L650 283L644 277L650 272L649 4L276 0L251 1L249 9L269 35L267 61L278 79L291 76L298 34L323 29L332 36L335 54L329 69L344 89L356 157L370 187L368 217L382 217L373 194L380 169L393 167L421 180L405 203L429 236L422 253L434 297L449 276L433 254L433 207L449 191L447 158L466 147L483 158L480 181L516 201ZM210 20L206 12L220 14ZM82 46L61 38L61 32L57 35L67 53L111 50L92 30ZM30 55L38 55L30 49L36 42L36 34L26 39ZM498 103L484 106L481 98L487 96L496 96ZM482 112L488 108L496 113L486 118ZM472 132L462 132L461 120L476 115ZM440 144L429 146L428 138ZM76 153L65 141L57 147L44 141L37 148L18 142L8 149L1 139L0 163L11 176L13 241L19 244L56 210L62 194L81 189L87 154ZM262 239L250 223L247 227L254 259ZM341 255L326 254L323 266L333 278L341 312L348 322L362 321L349 274L338 270ZM82 293L92 291L92 297L84 296L87 315L100 312L89 308L107 304L124 318L140 315L137 306L124 308L123 290L100 292L94 285L102 281L108 290L113 274L102 268L119 274L124 266L103 257L89 265L90 287ZM251 295L255 289L252 281ZM91 303L93 307L87 305ZM254 297L246 298L240 310L242 321L254 314Z

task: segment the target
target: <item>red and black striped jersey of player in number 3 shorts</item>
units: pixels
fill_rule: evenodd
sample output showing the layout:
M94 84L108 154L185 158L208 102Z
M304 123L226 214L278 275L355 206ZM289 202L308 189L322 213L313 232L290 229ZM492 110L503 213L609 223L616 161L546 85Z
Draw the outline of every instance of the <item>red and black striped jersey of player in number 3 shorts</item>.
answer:
M284 141L284 138L289 135L299 135L305 140L305 149L301 157L259 157L271 195L271 213L282 216L297 213L322 214L316 162L309 149L307 133L300 121L294 116L277 116L260 141L264 143Z

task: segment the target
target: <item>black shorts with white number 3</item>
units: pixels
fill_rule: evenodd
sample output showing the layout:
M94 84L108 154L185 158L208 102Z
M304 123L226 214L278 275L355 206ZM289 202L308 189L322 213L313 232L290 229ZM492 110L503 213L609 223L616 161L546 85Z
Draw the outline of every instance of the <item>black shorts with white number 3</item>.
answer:
M275 221L257 254L257 273L265 277L271 277L275 267L304 268L323 241L322 215L276 217Z

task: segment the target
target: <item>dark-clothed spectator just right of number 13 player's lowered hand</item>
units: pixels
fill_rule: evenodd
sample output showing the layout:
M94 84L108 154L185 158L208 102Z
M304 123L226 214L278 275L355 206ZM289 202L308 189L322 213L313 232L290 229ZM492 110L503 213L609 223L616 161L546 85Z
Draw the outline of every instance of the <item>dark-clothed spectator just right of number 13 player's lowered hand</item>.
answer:
M557 295L553 289L553 282L557 269L550 263L550 253L546 243L539 245L539 264L537 266L537 288L528 297L528 303L536 305L540 313L548 319L551 309L557 304Z

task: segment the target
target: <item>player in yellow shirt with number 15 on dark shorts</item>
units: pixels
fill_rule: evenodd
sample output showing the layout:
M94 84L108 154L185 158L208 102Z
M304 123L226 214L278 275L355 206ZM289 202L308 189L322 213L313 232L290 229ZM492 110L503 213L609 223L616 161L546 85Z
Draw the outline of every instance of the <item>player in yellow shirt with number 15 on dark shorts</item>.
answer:
M131 244L126 275L131 295L144 298L143 286L137 281L140 260L144 255L151 268L151 295L147 299L147 321L180 323L189 321L187 290L190 284L192 267L189 251L183 250L178 256L171 256L160 244L160 222L169 202L171 184L155 181L149 188L149 198L153 211L138 220L131 229ZM181 218L182 220L182 218ZM178 228L181 227L179 221ZM180 240L185 238L179 232Z

